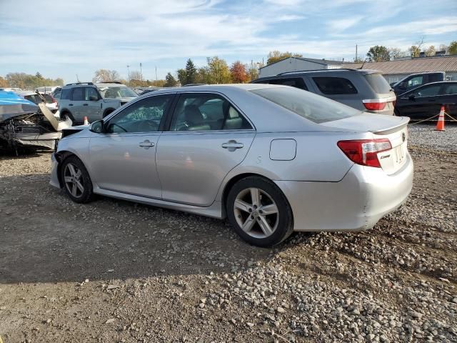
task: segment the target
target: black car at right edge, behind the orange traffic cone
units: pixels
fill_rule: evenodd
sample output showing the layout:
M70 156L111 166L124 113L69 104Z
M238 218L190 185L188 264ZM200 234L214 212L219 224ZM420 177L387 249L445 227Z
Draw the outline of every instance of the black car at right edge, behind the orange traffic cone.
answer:
M424 84L397 96L396 116L409 116L411 120L427 119L440 112L457 116L457 81L442 81Z

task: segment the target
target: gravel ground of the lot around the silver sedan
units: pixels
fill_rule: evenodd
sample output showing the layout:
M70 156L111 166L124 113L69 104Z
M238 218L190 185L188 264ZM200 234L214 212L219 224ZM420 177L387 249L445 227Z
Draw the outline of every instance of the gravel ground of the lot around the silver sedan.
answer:
M411 126L413 192L362 233L250 247L224 221L49 184L0 157L0 335L9 342L456 342L456 128ZM444 154L431 152L445 151Z

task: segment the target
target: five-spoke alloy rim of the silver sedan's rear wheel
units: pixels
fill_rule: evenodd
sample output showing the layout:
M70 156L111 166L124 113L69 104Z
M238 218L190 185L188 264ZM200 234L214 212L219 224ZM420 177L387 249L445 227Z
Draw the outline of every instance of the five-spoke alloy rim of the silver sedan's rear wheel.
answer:
M251 237L269 237L278 227L278 207L262 189L251 187L239 192L233 212L239 227Z

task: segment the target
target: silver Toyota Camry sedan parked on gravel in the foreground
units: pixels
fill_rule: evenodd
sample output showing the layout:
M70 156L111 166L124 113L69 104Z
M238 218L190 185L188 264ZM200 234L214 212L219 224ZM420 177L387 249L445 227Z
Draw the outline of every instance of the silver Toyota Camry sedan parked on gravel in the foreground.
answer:
M229 217L267 247L293 231L370 229L400 207L407 123L288 86L164 89L67 132L51 185L79 203L102 194Z

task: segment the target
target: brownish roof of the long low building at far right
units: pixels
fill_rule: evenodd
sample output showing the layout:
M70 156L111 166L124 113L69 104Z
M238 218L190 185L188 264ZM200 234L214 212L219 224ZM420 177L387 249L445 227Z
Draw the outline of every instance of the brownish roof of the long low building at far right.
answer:
M344 64L344 68L358 69L361 63ZM427 71L444 71L446 79L457 80L457 56L414 57L386 62L365 62L363 69L375 69L383 73L388 83L400 81L405 76Z

